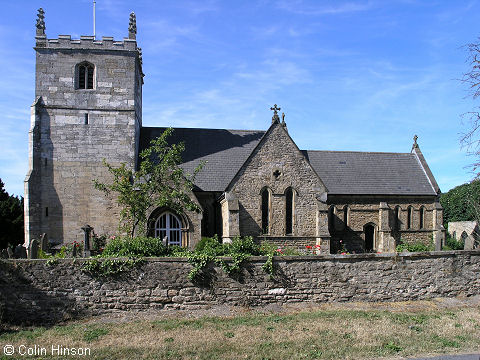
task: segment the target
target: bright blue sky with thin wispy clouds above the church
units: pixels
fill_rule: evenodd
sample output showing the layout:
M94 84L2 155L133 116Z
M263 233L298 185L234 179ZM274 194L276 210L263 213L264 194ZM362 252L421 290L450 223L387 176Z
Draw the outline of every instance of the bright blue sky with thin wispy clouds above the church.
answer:
M2 1L0 178L23 195L36 12L48 38L92 35L92 1ZM301 149L409 152L414 134L443 192L472 179L458 81L479 1L97 0L97 38L137 15L145 126L266 129L286 113Z

